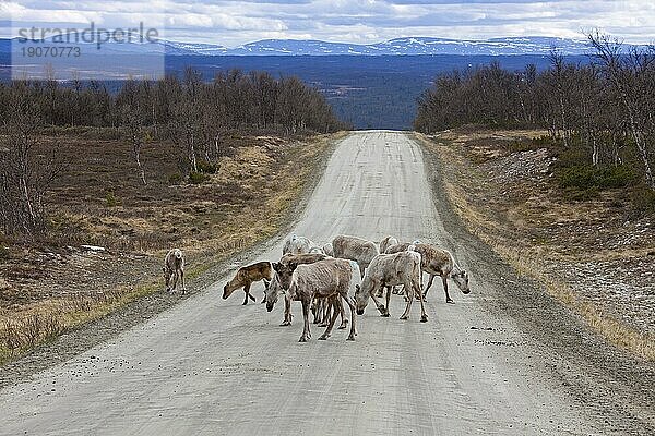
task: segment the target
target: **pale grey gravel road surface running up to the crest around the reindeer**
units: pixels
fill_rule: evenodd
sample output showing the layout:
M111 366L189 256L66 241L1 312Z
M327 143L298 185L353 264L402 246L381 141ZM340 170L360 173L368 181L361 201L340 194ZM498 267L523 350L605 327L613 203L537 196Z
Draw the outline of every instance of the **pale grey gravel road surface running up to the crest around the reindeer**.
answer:
M396 296L391 318L372 304L358 317L355 342L343 330L319 341L312 326L299 343L297 303L294 325L279 327L282 306L241 306L240 292L223 301L226 278L216 277L172 310L4 388L0 434L651 433L652 366L612 354L461 230L432 193L438 166L428 160L409 135L352 134L294 229L317 242L393 234L451 250L473 293L453 286L456 304L446 305L437 284L427 324L418 304L400 320ZM281 245L249 261L276 259Z

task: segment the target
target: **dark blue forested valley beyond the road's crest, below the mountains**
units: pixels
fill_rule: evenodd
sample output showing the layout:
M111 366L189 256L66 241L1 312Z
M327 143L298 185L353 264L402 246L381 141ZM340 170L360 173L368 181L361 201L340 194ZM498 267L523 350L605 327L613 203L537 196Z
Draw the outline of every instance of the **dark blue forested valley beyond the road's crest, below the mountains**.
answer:
M586 57L567 60L588 62ZM170 57L167 70L181 74L192 65L206 78L228 69L296 75L323 92L335 114L355 129L410 130L417 99L439 73L492 62L509 71L522 71L527 64L538 70L549 65L545 56Z

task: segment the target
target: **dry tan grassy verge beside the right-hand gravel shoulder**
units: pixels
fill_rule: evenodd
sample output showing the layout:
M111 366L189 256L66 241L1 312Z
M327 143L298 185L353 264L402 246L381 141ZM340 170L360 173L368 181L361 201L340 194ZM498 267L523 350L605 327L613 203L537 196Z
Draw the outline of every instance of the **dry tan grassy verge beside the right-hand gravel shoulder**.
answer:
M550 240L538 231L539 226L545 226L547 217L541 214L532 220L525 210L512 204L508 198L514 192L509 183L504 183L500 190L499 186L489 183L489 169L480 170L480 161L476 162L463 155L460 147L463 142L441 137L432 141L424 135L417 135L417 138L427 153L437 156L442 162L448 162L448 166L442 166L445 193L473 234L491 246L520 274L543 283L551 296L577 314L608 342L643 360L655 361L655 337L652 334L633 328L606 313L594 302L579 295L564 279L553 276L551 270L545 268L546 259L586 256L586 252L580 253L577 249L568 250L570 246L565 244L558 247L551 244ZM501 190L507 191L502 195L493 193ZM534 192L525 194L525 198L531 201L531 195L534 195ZM555 194L541 192L540 195ZM534 197L532 202L539 203ZM581 204L567 207L588 208L593 205ZM547 232L544 234L548 235ZM590 245L588 250L596 251L593 245ZM598 252L596 251L596 255L599 256ZM617 255L605 251L603 254Z

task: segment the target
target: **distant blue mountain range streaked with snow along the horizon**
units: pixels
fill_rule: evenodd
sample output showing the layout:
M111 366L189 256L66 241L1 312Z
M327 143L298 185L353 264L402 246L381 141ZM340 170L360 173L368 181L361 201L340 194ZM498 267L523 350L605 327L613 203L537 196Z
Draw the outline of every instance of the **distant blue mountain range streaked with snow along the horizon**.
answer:
M74 44L85 50L95 50L93 44ZM0 53L11 50L10 39L0 39ZM15 44L14 46L19 46ZM67 46L69 46L67 44ZM14 47L14 51L16 51ZM628 47L628 46L627 46ZM155 44L117 44L103 46L105 55L167 56L517 56L548 55L557 48L562 55L587 55L593 50L586 40L553 37L508 37L486 40L407 37L383 43L358 45L301 39L264 39L227 48L214 44L193 44L159 40Z

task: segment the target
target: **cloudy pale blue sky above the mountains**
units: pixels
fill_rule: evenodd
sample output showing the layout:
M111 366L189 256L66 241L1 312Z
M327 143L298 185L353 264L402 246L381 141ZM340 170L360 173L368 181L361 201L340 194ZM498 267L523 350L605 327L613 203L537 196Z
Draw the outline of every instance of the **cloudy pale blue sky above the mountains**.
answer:
M655 0L0 0L0 37L21 27L86 28L92 22L107 28L143 22L166 39L227 47L269 38L583 38L594 28L648 44L655 41Z

